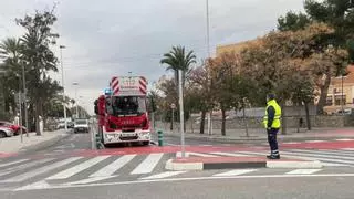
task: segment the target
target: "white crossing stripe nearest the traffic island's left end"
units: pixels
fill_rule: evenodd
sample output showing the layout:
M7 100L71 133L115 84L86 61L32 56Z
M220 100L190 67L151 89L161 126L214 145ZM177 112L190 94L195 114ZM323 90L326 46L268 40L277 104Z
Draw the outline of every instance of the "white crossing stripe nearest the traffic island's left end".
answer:
M149 174L154 170L158 161L164 156L163 153L148 155L131 174Z

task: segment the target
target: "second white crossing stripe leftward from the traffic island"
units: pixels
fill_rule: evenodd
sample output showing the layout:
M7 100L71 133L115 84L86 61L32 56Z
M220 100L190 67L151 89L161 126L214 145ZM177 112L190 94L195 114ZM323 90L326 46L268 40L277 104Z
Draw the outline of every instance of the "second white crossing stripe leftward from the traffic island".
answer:
M92 174L90 177L104 177L104 176L112 176L115 171L119 170L124 165L129 163L136 155L125 155L116 159L115 161L111 163L106 167L97 170L96 172Z

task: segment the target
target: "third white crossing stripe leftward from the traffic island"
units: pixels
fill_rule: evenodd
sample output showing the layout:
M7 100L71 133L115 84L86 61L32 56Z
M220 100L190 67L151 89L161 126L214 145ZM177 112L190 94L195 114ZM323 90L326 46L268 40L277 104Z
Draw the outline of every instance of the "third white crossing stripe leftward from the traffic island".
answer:
M111 156L94 157L94 158L88 159L88 160L86 160L86 161L84 161L82 164L79 164L79 165L76 165L76 166L74 166L72 168L69 168L69 169L63 170L63 171L61 171L59 174L55 174L54 176L48 177L46 179L52 180L52 179L66 179L66 178L70 178L72 176L74 176L74 175L76 175L76 174L79 174L79 172L81 172L81 171L83 171L83 170L85 170L85 169L98 164L100 161L107 159L108 157L111 157Z

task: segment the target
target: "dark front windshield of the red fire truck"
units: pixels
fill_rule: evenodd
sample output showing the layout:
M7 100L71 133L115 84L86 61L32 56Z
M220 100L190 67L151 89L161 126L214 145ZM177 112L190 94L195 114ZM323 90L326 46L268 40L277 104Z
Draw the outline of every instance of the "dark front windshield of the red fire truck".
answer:
M143 96L113 96L112 112L115 116L140 115L146 112L146 102Z

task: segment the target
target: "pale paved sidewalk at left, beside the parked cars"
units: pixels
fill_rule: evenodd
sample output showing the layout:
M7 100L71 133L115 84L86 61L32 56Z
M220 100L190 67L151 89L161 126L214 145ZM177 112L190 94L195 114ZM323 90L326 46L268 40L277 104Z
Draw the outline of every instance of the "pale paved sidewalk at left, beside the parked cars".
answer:
M35 150L41 147L55 144L58 140L69 136L64 130L44 132L41 136L35 133L30 133L29 137L23 135L23 143L21 143L21 135L13 137L6 137L0 139L0 157L6 157L8 154L17 154L23 150Z

